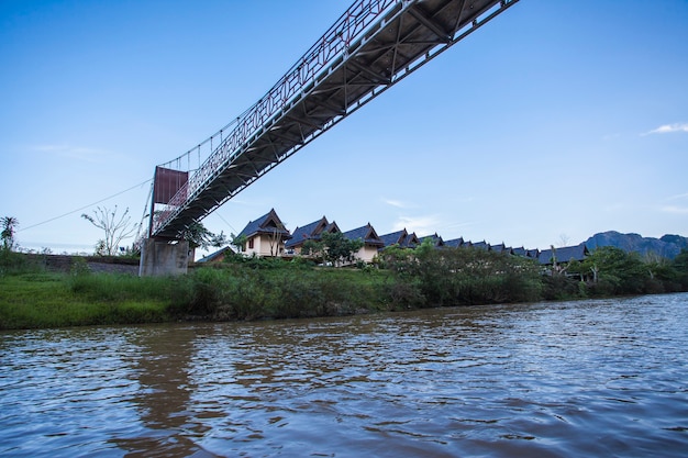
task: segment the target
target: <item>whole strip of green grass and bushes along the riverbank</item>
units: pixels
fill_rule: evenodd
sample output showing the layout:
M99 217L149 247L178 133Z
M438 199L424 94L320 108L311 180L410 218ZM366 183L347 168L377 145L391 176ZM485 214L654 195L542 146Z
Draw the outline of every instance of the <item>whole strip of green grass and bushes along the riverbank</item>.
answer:
M89 267L91 266L91 267ZM318 267L297 258L230 256L175 278L99 272L81 258L54 271L0 249L0 328L264 320L432 306L688 291L688 250L641 258L600 247L565 272L476 248L387 248L374 265Z

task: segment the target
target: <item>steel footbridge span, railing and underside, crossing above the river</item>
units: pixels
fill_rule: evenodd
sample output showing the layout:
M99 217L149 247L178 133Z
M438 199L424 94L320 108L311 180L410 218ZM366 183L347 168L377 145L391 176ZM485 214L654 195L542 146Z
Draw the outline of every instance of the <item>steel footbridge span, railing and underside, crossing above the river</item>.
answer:
M148 235L178 238L189 225L518 1L356 0L260 100L187 153L198 149L200 163L201 148L209 150L196 170L180 172L185 182L168 199L158 200L162 208L152 209ZM153 202L155 208L155 197Z

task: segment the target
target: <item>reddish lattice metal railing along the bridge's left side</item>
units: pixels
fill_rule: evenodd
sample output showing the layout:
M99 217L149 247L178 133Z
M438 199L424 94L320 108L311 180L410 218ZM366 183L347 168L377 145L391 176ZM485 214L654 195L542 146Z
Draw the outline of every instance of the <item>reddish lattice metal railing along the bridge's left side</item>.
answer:
M236 155L252 136L289 105L303 89L314 81L348 46L390 7L409 0L358 0L332 27L281 77L281 79L253 107L230 125L233 130L223 137L208 159L193 172L187 183L169 201L166 210L156 213L152 234L164 228L184 208L187 201L202 191ZM212 144L212 137L210 138ZM203 142L208 143L208 139ZM199 144L200 147L200 144Z

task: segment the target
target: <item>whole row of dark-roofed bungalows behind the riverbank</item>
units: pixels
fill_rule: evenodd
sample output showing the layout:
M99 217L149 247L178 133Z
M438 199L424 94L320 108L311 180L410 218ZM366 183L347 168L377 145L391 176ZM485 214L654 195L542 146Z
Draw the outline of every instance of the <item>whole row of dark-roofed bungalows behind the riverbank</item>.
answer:
M588 255L588 249L584 244L541 252L539 249L525 249L523 247L512 248L506 246L503 243L498 245L490 245L485 241L474 243L464 241L463 237L444 241L436 233L419 237L415 233L407 232L406 228L378 235L370 223L351 231L342 232L336 222L330 222L325 216L312 223L297 226L293 232L290 232L279 219L275 209L271 209L268 213L254 221L249 221L238 233L237 237L245 238L245 243L240 249L244 256L291 258L302 256L304 244L308 241L319 242L324 233L342 233L342 235L348 239L363 241L364 245L355 254L354 258L365 262L373 261L378 253L388 246L397 245L401 248L414 248L426 241L430 241L436 248L475 248L523 256L537 259L543 266L554 266L553 269L561 269L561 266L564 266L572 259L582 260ZM223 254L226 253L228 249L229 248L223 248L213 253L200 259L199 262L222 260L224 257Z

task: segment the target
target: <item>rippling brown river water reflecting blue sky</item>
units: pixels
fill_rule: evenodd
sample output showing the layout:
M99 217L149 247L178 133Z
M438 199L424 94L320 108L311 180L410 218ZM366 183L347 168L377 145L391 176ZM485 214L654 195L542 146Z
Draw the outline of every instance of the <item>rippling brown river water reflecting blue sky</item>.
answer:
M688 294L0 334L0 456L685 457Z

